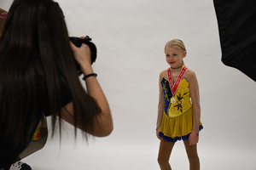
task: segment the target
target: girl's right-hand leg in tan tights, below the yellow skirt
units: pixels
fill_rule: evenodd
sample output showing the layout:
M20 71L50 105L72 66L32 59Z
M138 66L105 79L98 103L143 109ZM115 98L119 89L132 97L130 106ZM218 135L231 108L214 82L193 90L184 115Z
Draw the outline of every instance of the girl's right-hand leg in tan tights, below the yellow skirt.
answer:
M189 158L189 169L200 170L200 161L197 155L197 144L189 145L189 140L183 140Z

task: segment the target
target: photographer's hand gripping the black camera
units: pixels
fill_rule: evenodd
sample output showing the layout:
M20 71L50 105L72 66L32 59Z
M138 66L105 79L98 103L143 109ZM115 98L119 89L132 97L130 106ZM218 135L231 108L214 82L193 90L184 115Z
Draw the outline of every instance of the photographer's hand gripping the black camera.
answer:
M84 39L85 37L80 37L80 38ZM91 64L90 48L88 45L82 43L81 47L77 48L75 45L73 45L73 42L70 42L70 46L73 50L74 58L79 63L79 65Z

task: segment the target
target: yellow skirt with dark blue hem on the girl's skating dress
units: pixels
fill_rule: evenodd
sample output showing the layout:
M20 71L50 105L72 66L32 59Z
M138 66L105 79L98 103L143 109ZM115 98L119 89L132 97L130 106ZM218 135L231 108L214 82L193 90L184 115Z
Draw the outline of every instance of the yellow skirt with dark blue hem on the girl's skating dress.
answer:
M176 142L177 140L181 139L189 139L189 133L192 132L192 128L193 107L186 111L183 115L175 118L166 116L166 112L164 112L160 127L160 137L172 142ZM200 122L200 130L202 128L203 127Z

